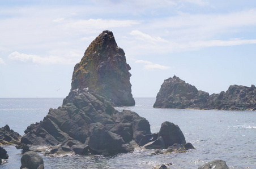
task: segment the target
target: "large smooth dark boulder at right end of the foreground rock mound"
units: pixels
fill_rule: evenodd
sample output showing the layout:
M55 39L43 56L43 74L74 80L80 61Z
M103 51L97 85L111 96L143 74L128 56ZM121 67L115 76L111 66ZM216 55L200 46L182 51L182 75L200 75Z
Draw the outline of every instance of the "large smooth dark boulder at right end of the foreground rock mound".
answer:
M182 145L186 144L184 134L180 130L180 127L171 122L164 122L161 124L159 137L163 137L165 148L168 148L175 143Z

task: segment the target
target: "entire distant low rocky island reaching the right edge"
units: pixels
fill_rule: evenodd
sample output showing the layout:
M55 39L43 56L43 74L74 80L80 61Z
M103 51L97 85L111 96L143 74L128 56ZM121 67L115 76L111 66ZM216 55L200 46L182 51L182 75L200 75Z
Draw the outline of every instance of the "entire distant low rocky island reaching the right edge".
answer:
M174 75L164 80L154 108L256 110L256 87L232 85L226 92L209 95Z

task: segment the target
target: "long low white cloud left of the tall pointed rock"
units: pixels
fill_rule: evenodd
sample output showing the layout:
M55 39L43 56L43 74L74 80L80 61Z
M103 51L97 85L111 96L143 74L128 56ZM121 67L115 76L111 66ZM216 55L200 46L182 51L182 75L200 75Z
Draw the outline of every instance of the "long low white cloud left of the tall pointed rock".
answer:
M19 52L12 52L9 56L9 59L21 61L21 62L32 62L35 64L75 64L74 59L69 58L66 59L65 57L60 56L48 56L48 57L41 57L38 55L28 55L28 54L20 54Z

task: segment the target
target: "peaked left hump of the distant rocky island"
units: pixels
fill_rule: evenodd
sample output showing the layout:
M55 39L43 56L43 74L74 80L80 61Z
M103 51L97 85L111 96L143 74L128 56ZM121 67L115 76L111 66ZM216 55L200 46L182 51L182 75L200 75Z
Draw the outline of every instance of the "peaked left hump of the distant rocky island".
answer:
M208 96L207 92L198 91L195 86L174 75L173 78L164 80L153 107L184 109L193 104L206 103Z

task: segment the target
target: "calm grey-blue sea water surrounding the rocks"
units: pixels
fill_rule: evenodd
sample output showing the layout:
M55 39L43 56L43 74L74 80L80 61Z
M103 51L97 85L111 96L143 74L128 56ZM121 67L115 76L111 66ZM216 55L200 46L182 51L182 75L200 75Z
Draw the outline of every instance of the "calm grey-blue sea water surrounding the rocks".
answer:
M42 121L49 108L58 108L63 98L0 99L0 127L8 124L20 135L31 123ZM114 156L73 155L45 157L45 168L198 168L206 162L221 159L229 168L256 168L256 112L193 109L155 109L155 98L135 98L136 105L117 107L129 109L146 118L151 132L159 132L165 121L177 124L187 143L194 145L186 153L151 155L153 150L136 149ZM9 158L1 169L19 168L21 150L15 145L3 146Z

